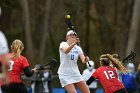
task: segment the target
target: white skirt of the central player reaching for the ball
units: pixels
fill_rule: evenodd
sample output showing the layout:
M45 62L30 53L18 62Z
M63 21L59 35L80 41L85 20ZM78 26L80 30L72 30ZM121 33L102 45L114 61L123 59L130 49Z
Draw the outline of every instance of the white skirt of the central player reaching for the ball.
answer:
M60 80L62 87L66 86L68 84L73 84L73 83L77 83L80 81L84 81L84 79L81 75L69 76L69 75L62 75L62 74L59 74L59 80Z

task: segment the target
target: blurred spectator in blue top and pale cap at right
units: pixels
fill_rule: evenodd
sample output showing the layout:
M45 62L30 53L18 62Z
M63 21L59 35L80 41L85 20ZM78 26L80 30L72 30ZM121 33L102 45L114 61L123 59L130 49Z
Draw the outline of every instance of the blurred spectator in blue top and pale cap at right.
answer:
M121 74L121 80L124 84L126 90L128 93L134 93L136 91L136 72L135 72L135 66L133 63L127 64L128 73Z

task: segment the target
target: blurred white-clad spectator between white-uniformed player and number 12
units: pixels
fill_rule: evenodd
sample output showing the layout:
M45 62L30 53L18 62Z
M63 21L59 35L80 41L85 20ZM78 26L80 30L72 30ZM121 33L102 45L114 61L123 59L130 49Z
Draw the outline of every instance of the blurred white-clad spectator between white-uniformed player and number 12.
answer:
M89 66L89 64L90 64L91 66ZM96 69L95 69L95 64L94 64L94 62L93 62L92 60L89 61L89 64L86 63L87 68L83 71L83 74L82 74L83 78L84 78L86 81L91 77L92 73L96 70ZM97 89L97 80L93 81L93 82L89 85L89 89L90 89L90 92L91 92L91 93L96 93L96 89Z

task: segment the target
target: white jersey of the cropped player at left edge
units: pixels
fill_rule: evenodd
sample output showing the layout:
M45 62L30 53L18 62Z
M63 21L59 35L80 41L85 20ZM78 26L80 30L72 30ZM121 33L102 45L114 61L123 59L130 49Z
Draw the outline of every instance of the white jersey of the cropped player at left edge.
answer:
M5 35L0 31L0 55L9 51Z

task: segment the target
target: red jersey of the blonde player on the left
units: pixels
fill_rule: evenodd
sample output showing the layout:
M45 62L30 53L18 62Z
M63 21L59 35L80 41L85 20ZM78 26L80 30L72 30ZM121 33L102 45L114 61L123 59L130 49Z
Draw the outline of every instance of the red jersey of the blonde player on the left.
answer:
M29 63L24 56L21 55L19 58L11 58L8 73L10 83L21 83L20 75L27 66L29 66Z

